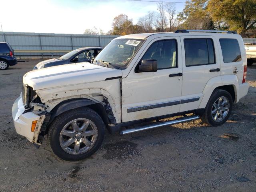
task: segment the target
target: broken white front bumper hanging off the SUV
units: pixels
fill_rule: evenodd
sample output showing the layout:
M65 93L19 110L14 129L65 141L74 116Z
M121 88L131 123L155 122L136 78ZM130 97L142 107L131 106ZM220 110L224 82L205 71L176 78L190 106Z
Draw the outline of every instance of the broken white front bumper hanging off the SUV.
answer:
M25 112L22 102L22 93L20 94L20 97L15 100L12 106L12 118L16 132L26 137L30 142L37 143L38 134L44 122L45 115L39 116L31 111ZM34 132L31 131L33 121L37 121Z

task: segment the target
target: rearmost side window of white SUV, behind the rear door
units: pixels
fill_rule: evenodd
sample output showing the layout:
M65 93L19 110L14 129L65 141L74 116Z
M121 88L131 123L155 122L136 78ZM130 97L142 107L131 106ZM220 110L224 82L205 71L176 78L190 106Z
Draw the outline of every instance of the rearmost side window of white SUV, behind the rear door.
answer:
M236 39L220 39L220 46L224 63L241 61L241 52Z

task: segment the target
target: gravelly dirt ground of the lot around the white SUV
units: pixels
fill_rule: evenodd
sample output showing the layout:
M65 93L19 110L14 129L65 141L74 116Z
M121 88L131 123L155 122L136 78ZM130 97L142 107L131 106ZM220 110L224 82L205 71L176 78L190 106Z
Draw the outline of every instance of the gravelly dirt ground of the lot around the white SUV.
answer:
M224 125L200 120L138 132L106 134L86 160L66 162L16 134L12 104L22 76L39 60L0 71L0 192L4 191L256 191L256 64L248 95Z

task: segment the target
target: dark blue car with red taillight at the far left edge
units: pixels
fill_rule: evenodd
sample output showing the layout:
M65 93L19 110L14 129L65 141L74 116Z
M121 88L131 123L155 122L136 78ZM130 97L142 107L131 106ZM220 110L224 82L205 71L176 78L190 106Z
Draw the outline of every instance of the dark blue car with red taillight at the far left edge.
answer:
M6 70L17 63L12 47L8 43L0 42L0 70Z

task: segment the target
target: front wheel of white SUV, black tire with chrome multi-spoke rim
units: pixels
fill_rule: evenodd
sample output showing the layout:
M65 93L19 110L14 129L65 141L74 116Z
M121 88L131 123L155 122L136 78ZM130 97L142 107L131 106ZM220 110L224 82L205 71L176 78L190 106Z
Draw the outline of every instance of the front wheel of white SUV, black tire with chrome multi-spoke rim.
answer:
M48 142L54 154L67 161L87 158L100 148L105 135L102 118L84 107L60 114L50 124Z

